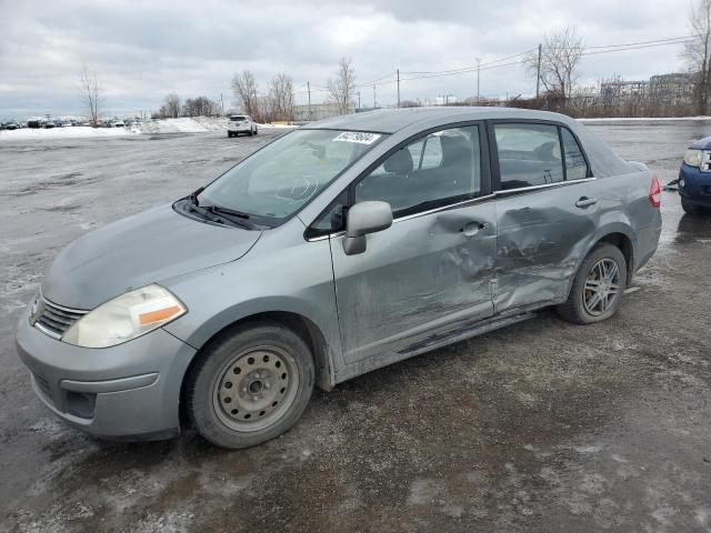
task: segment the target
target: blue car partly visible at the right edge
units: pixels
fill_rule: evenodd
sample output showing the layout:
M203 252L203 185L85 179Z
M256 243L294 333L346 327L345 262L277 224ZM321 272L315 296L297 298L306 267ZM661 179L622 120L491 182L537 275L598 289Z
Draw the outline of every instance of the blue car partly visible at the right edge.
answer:
M711 137L687 149L679 169L679 195L687 213L711 209Z

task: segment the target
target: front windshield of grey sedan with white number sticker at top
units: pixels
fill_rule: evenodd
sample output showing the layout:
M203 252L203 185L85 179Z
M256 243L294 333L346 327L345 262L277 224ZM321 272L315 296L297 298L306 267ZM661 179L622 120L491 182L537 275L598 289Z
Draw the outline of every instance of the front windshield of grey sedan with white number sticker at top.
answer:
M384 135L296 130L230 169L198 195L269 225L297 212ZM261 219L261 220L259 220Z

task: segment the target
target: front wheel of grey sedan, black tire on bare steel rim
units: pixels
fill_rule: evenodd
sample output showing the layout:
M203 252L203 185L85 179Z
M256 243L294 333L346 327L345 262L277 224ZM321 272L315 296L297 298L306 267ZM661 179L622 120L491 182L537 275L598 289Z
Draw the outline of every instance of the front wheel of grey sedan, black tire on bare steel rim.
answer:
M277 322L228 331L199 356L188 379L186 410L198 432L218 446L249 447L281 435L299 420L313 392L311 351L303 339ZM258 381L257 391L252 385ZM237 408L242 411L234 413ZM271 411L267 416L260 409Z

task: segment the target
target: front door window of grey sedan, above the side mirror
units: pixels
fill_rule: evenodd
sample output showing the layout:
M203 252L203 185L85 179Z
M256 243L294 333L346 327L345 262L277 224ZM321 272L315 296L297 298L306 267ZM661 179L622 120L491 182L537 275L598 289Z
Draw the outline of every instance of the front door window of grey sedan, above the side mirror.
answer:
M356 184L356 202L381 200L405 215L481 194L479 127L451 128L401 148Z

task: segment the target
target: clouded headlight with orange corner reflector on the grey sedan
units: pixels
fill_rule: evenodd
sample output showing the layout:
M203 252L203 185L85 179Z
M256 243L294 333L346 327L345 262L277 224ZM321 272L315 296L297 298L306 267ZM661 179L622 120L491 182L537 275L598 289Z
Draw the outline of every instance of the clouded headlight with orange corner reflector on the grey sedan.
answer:
M82 348L108 348L141 336L187 312L167 289L146 285L102 303L62 335Z

